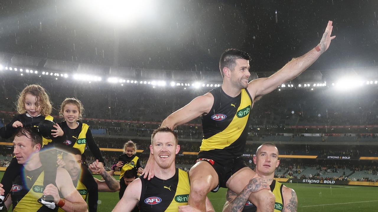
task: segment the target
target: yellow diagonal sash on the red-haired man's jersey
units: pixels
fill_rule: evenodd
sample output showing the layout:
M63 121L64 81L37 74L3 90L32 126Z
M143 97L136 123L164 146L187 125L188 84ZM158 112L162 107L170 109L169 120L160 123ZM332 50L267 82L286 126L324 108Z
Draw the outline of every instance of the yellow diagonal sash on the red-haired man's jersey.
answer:
M186 171L178 169L178 183L175 197L169 204L166 212L177 212L178 206L187 205L190 192L189 175Z

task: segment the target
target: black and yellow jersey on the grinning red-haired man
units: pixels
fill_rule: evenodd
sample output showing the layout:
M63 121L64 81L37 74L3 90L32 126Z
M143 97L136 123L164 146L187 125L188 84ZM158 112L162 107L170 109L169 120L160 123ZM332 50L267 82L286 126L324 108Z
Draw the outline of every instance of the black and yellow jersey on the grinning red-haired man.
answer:
M189 175L176 168L176 173L168 180L156 176L151 180L140 177L142 191L139 198L141 212L177 212L178 206L187 205L190 192Z

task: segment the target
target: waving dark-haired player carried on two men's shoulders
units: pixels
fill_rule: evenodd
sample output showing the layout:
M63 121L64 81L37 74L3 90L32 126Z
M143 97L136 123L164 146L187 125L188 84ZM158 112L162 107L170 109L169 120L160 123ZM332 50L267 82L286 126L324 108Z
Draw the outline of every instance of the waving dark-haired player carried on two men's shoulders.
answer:
M203 140L197 161L189 172L190 206L204 211L206 195L211 190L215 191L220 186L239 194L249 180L256 176L241 158L248 135L249 112L254 100L305 71L328 49L331 40L335 38L331 37L331 33L332 22L328 21L318 46L289 61L270 77L250 82L249 55L237 49L226 50L219 62L222 86L194 98L163 121L162 127L174 129L202 116ZM153 158L150 156L144 169L148 178L153 177L152 166ZM257 206L257 211L273 212L275 198L269 185L260 177L256 179L258 183L254 186L258 189L254 188L256 192L251 194L249 201Z

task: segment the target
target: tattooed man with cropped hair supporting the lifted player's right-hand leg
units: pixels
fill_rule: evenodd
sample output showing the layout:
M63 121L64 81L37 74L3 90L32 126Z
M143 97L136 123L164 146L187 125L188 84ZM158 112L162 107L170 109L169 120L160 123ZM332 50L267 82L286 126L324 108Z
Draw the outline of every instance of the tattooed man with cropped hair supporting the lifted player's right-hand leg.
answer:
M298 200L295 191L274 180L274 171L280 164L276 145L263 143L259 146L256 156L253 157L253 163L256 164L256 174L265 179L270 185L274 197L276 197L274 212L296 212ZM257 207L248 201L249 195L253 192L251 188L254 184L256 184L256 178L251 179L239 195L228 189L223 212L256 212Z

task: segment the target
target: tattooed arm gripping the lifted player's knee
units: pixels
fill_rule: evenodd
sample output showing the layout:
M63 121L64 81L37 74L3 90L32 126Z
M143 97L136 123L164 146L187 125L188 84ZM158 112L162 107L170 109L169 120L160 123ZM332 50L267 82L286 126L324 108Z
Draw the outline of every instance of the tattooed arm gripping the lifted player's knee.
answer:
M252 178L239 195L228 189L226 194L226 203L225 206L223 206L223 212L243 211L249 196L253 192L260 190L260 187L267 188L269 186L262 178Z

